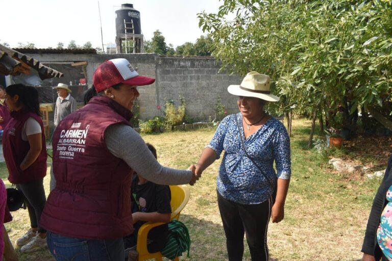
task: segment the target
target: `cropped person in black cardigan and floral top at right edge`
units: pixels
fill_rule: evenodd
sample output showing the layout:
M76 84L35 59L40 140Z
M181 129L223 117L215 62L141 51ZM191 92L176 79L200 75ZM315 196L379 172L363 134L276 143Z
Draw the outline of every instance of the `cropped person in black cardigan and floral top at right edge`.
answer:
M392 260L392 155L374 197L363 239L362 261Z

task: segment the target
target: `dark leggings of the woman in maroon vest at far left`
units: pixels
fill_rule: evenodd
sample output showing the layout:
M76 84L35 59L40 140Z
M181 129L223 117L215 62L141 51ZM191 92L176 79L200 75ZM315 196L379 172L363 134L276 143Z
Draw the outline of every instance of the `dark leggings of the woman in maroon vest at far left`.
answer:
M43 207L46 203L43 178L23 184L16 184L16 188L24 195L24 203L29 211L31 227L38 227L39 233L46 232L45 229L39 227Z

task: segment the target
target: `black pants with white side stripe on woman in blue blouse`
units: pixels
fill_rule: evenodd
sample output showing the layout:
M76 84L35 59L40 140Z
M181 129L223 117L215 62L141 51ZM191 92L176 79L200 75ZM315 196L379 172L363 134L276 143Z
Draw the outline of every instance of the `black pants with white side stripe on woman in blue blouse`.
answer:
M255 205L243 205L218 194L218 206L226 234L229 261L241 261L246 234L253 261L268 261L267 230L272 198Z

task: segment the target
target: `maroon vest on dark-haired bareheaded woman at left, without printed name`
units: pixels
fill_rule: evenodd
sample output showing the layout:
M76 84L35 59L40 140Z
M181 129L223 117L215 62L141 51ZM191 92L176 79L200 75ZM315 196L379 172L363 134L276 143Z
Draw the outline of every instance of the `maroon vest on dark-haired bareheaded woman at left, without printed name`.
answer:
M34 118L41 126L42 150L37 160L25 170L20 169L27 152L30 150L28 141L22 140L22 128L30 118ZM11 118L3 132L3 154L8 168L8 180L12 184L26 183L41 179L46 175L46 143L43 132L42 119L35 113L26 109L11 112Z

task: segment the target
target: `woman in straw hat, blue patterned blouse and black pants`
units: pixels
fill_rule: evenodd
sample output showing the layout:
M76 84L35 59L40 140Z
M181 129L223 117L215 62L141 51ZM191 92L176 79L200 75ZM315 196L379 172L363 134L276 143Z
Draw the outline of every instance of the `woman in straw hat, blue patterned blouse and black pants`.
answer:
M284 217L290 140L284 125L263 110L266 101L279 100L269 91L270 84L268 75L252 71L241 85L228 87L238 96L240 112L220 122L196 165L201 175L225 150L217 197L230 261L242 260L244 233L252 260L268 260L268 221L272 217L277 223Z

